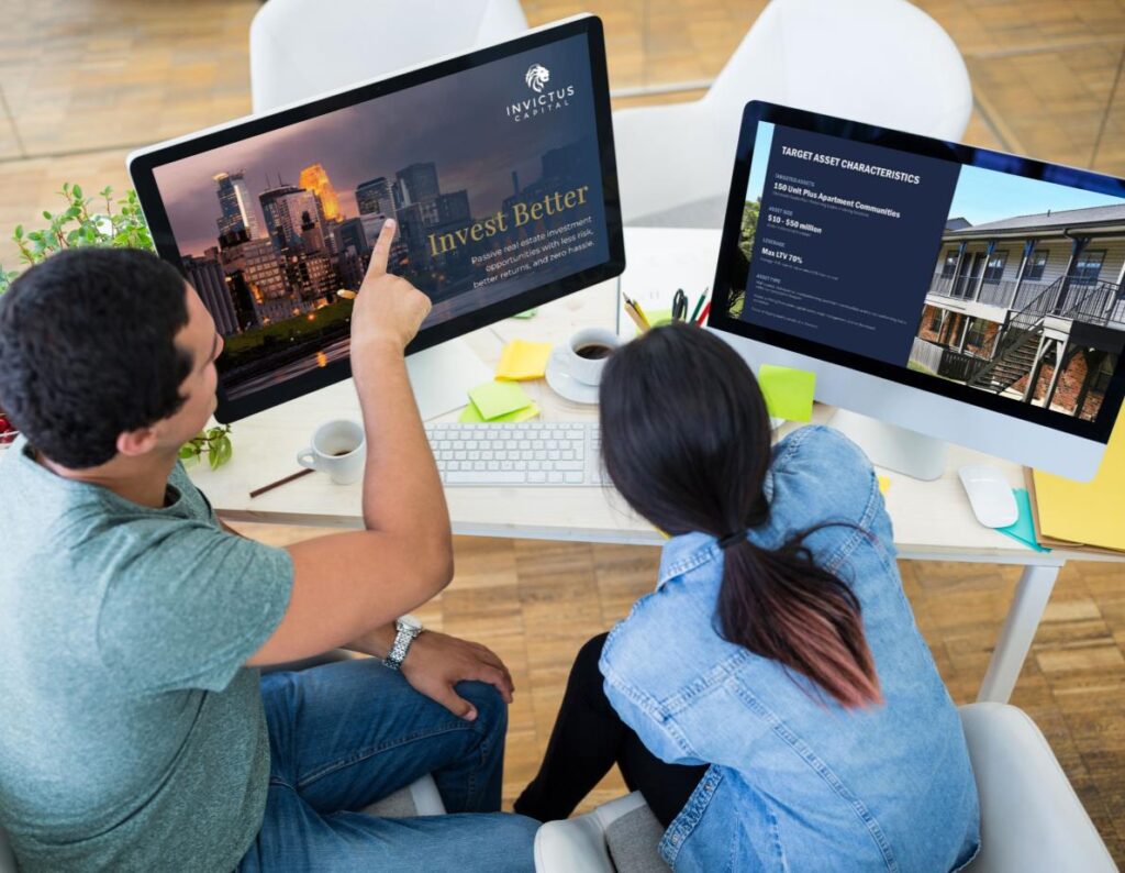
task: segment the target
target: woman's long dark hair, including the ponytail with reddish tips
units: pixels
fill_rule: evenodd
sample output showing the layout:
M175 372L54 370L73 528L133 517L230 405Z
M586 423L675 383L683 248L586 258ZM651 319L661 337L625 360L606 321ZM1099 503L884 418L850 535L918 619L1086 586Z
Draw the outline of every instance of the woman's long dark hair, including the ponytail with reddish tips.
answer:
M754 374L691 324L620 348L601 383L602 455L629 505L668 534L716 537L764 524L770 417ZM844 706L881 700L852 589L818 567L799 532L775 551L745 535L723 550L723 639L812 679Z

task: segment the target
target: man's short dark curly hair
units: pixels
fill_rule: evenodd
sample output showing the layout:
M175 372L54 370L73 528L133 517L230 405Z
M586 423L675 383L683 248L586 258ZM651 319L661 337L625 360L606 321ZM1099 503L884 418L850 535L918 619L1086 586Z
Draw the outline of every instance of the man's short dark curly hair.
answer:
M72 470L117 437L174 413L191 353L183 277L140 249L58 252L0 297L0 406L28 442Z

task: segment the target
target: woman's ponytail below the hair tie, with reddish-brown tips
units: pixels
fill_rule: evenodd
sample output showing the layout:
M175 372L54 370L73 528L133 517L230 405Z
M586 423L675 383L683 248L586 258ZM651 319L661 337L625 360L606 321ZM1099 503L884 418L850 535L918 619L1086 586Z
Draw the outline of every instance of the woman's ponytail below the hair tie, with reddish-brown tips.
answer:
M759 549L742 533L720 540L722 638L808 677L845 707L880 703L860 602L816 564L803 544L809 533L776 551Z

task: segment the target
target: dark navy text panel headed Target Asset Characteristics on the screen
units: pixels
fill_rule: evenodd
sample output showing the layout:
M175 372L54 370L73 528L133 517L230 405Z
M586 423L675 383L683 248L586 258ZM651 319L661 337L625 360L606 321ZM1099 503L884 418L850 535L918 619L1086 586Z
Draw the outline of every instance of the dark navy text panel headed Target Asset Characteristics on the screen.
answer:
M783 145L899 170L920 182L788 157ZM776 125L742 320L906 365L960 169L950 161ZM788 179L785 185L894 210L900 217L778 191L778 177ZM771 224L767 216L782 216L782 211L820 232ZM764 256L763 248L775 255Z

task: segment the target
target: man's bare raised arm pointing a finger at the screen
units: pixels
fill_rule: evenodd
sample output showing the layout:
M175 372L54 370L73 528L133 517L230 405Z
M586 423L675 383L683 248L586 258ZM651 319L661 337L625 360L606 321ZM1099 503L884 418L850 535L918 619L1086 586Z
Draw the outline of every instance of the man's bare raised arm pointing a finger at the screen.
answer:
M361 639L429 600L453 574L449 510L403 358L430 301L386 271L394 232L386 222L352 311L352 375L367 433L366 529L288 547L289 605L250 666Z

